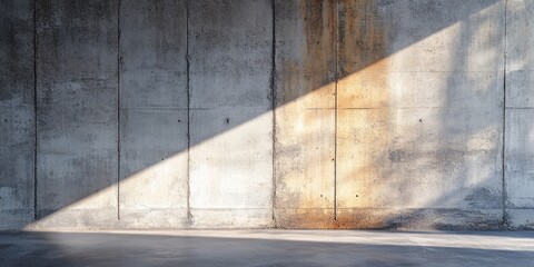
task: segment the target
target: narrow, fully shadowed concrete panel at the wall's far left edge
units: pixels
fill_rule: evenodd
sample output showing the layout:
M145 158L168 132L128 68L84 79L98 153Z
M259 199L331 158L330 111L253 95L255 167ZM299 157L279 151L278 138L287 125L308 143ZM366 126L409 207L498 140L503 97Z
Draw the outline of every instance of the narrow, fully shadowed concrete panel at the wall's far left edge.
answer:
M20 228L33 218L33 4L0 10L0 228Z

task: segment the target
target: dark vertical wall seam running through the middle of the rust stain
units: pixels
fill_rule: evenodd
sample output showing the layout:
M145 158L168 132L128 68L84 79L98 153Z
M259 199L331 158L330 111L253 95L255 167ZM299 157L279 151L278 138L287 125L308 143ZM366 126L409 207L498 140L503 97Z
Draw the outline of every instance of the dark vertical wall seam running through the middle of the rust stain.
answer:
M334 108L334 220L337 220L337 82L339 80L339 0L336 0L336 73Z

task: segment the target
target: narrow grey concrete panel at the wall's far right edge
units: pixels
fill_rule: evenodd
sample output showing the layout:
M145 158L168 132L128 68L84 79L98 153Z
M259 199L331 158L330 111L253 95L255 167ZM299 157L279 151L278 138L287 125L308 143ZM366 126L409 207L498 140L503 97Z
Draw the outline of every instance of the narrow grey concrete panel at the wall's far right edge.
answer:
M508 224L534 229L534 2L510 1L506 23L505 189Z

